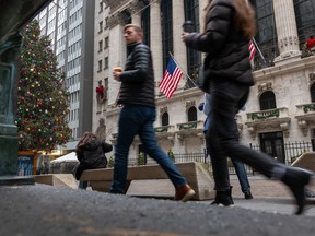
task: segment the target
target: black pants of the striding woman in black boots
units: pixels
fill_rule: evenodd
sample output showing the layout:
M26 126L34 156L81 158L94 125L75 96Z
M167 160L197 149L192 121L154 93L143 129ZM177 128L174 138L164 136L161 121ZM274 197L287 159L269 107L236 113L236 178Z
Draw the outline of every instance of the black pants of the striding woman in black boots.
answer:
M234 118L248 98L249 86L231 81L212 81L211 95L211 123L206 135L217 191L230 189L226 156L242 161L267 177L272 177L272 169L278 165L285 168L271 156L238 143Z

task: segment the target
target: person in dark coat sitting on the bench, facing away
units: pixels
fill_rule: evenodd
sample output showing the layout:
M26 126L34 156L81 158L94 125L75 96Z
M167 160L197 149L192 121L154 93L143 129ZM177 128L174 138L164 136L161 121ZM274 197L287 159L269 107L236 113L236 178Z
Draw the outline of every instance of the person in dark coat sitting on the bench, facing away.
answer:
M105 141L101 141L92 132L85 132L77 144L77 158L79 165L75 169L75 179L80 180L85 169L106 168L107 158L105 153L112 152L113 146ZM86 189L88 182L80 181L79 188Z

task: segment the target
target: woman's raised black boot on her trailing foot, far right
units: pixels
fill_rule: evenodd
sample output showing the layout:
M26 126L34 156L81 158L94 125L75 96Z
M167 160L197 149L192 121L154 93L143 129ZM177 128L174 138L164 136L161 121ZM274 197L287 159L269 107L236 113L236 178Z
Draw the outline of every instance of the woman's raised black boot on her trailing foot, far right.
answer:
M305 186L308 184L311 176L312 173L305 169L288 167L282 178L282 181L290 188L296 200L298 211L295 214L303 213L305 204Z

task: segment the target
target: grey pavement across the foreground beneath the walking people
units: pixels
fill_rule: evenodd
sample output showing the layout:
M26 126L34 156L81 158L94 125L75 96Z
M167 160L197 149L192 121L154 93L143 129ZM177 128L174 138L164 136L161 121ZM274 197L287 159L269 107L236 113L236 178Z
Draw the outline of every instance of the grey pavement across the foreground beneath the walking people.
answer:
M304 215L296 216L290 196L261 197L256 190L261 188L258 182L269 188L271 182L261 177L249 181L254 199L245 200L242 193L237 196L237 179L232 176L232 208L211 205L211 201L182 203L40 184L1 186L0 235L314 235L314 202ZM268 190L269 194L279 193L278 187L278 191Z

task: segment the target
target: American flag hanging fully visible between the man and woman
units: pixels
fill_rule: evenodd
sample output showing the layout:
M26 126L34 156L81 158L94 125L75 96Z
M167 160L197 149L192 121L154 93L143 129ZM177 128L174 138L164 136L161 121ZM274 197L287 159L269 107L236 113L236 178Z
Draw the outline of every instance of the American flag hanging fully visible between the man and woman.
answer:
M176 64L173 57L171 57L166 71L164 73L164 76L159 84L161 92L167 98L171 98L173 93L176 91L182 76L183 76L183 71Z

